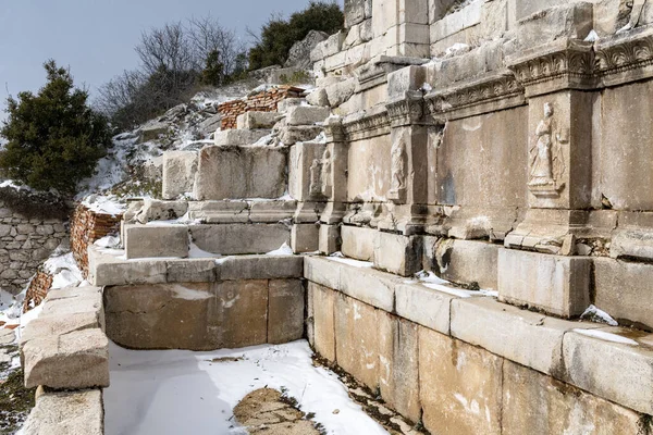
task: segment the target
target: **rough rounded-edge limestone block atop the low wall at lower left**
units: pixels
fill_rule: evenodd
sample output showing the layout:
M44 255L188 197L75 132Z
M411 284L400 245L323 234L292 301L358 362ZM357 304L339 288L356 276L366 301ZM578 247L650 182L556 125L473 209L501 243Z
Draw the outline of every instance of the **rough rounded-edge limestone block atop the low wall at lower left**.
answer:
M26 343L21 353L27 388L109 386L109 340L99 328L36 338Z

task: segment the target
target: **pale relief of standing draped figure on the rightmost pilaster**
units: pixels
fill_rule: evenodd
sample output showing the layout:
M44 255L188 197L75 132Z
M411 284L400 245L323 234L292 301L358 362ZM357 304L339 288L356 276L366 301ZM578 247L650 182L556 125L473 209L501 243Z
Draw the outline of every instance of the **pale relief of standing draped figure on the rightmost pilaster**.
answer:
M568 130L556 130L553 105L544 104L544 119L535 129L537 141L530 149L530 182L531 191L540 194L557 194L564 185L559 177L564 173L562 145L568 142Z

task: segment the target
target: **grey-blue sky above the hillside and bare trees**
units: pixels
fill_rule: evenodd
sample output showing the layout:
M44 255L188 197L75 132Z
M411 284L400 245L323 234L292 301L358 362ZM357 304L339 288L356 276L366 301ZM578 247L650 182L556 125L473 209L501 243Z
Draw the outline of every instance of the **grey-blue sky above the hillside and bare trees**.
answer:
M342 4L343 0L338 0ZM70 65L91 92L138 65L140 33L193 16L218 17L245 40L271 13L287 16L309 0L0 0L0 108L9 92L38 90L49 58ZM4 117L0 113L0 119Z

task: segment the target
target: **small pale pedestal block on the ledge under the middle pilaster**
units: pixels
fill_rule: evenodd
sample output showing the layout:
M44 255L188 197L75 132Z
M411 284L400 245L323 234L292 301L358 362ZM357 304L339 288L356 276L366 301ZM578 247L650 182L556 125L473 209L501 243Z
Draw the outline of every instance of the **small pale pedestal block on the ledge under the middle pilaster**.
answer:
M374 265L401 276L410 276L422 269L422 238L377 232Z

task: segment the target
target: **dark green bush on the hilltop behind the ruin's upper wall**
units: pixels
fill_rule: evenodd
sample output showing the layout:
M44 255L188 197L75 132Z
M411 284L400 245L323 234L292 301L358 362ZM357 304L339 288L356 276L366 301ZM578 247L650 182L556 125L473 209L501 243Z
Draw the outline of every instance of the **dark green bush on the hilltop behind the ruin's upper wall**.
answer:
M249 70L283 65L293 45L310 30L334 34L343 28L345 17L335 2L311 1L289 20L272 17L261 28L258 44L249 50Z

